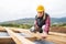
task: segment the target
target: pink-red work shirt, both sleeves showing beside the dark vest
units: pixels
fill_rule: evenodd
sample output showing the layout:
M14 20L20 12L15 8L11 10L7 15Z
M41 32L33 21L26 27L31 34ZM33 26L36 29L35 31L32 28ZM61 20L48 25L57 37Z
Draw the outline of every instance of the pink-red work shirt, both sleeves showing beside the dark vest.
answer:
M51 18L50 18L48 14L47 14L46 20L43 21L43 22L44 22L43 25L45 25L45 28L43 28L43 31L46 32L46 33L48 33L48 31L50 31L50 26L51 26ZM34 24L37 25L37 20L34 21ZM43 25L42 25L42 26L43 26ZM37 25L37 26L38 26L38 25ZM40 26L38 26L38 28L40 28Z

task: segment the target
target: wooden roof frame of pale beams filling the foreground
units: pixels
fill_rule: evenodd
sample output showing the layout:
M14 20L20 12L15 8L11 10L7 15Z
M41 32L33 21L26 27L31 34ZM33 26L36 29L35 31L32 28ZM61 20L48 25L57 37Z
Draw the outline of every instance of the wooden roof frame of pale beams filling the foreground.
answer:
M46 38L40 33L18 28L0 26L0 44L66 44L66 34L50 32Z

